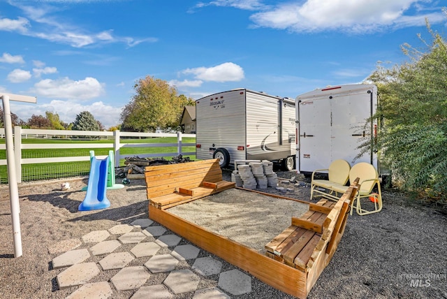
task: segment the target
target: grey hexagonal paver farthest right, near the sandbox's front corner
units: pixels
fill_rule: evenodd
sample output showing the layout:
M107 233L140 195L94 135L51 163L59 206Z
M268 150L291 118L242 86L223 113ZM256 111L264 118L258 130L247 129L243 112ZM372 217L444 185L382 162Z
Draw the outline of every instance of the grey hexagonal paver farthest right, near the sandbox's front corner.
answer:
M243 295L251 292L251 277L237 269L222 272L218 286L232 295Z

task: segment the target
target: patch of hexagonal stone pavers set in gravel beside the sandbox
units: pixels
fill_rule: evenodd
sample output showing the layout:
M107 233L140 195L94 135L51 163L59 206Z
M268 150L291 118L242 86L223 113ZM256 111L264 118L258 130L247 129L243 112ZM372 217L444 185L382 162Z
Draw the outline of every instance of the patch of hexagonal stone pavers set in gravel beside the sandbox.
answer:
M68 299L226 299L251 292L251 276L223 270L218 258L150 219L117 223L48 250L53 269L60 270L58 288L73 289Z

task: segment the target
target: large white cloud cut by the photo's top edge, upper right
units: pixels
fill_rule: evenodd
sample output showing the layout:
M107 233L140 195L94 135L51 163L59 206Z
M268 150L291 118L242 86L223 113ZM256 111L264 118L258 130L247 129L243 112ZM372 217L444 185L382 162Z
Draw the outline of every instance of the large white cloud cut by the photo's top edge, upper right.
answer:
M279 4L251 15L255 27L295 32L342 30L350 33L380 31L387 27L420 25L425 16L441 22L442 13L404 15L418 0L307 0ZM423 22L422 22L423 24Z

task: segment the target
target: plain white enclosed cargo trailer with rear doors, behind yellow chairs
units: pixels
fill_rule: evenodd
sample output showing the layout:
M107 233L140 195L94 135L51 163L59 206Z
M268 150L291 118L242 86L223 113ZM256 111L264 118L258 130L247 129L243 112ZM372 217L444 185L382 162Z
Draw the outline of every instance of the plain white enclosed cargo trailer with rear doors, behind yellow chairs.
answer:
M296 169L305 175L328 168L336 159L367 162L380 173L376 152L354 161L360 139L374 142L375 122L367 119L376 112L377 87L353 84L316 89L296 98L298 146Z

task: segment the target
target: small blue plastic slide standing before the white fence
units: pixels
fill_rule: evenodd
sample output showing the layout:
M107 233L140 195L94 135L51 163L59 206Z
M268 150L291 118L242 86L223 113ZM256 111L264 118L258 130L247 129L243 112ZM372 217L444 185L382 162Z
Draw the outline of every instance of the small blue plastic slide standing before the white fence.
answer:
M108 181L109 157L99 160L91 158L89 183L87 185L87 194L80 203L78 210L90 211L101 210L110 207L110 201L105 196Z

